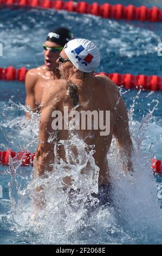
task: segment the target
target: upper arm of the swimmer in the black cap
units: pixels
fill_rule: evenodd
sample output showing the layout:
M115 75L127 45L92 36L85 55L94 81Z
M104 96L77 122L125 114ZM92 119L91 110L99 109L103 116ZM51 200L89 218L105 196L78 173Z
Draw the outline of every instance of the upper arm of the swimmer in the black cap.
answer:
M34 86L36 83L36 74L33 74L32 70L27 72L25 77L25 88L26 88L26 100L25 105L30 106L31 109L36 108L35 96L34 96ZM35 110L33 110L34 112ZM31 118L30 113L26 112L26 117Z

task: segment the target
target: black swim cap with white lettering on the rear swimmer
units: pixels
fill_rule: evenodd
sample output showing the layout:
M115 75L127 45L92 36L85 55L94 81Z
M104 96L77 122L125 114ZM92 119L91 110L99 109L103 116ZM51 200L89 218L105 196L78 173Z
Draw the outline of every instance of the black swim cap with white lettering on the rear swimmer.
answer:
M56 28L54 31L49 32L47 41L56 42L56 44L62 47L67 44L68 41L74 39L73 33L67 28Z

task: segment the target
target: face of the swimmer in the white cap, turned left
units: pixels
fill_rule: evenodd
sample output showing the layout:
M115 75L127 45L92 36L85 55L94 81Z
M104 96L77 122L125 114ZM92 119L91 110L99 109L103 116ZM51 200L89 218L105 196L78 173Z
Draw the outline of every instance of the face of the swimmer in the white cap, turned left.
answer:
M60 56L63 59L68 59L68 56L66 55L66 53L64 52L64 50L62 50L60 52ZM60 71L60 75L62 79L67 79L69 78L70 75L72 75L73 71L73 64L70 61L65 61L63 63L61 63L59 61L59 58L56 60L57 64L59 64L59 71Z

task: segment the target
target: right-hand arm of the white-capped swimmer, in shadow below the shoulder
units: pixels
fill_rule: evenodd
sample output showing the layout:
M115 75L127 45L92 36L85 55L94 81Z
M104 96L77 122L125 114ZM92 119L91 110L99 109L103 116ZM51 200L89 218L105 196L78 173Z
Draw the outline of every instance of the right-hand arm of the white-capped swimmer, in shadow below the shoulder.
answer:
M114 126L113 135L117 139L122 154L127 157L127 170L132 171L131 156L133 152L132 139L129 133L128 115L126 105L122 97L118 105L118 116Z

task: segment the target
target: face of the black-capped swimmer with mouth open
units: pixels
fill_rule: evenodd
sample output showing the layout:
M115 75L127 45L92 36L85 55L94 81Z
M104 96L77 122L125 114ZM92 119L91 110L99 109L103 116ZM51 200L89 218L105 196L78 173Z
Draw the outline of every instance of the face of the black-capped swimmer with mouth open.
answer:
M59 58L60 52L59 51L53 52L51 50L48 50L48 47L53 48L53 47L59 47L60 45L50 41L44 42L44 45L47 46L47 50L44 50L44 64L46 66L46 69L55 70L56 67L58 66L56 63L56 60Z

